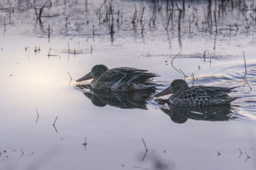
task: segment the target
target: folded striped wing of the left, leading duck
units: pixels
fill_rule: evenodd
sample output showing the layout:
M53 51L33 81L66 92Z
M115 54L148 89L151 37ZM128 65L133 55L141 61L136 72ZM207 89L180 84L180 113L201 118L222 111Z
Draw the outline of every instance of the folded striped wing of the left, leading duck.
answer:
M148 70L137 68L120 67L112 68L105 71L98 79L100 82L116 82L118 83L137 83L142 82L152 77L157 77L157 74L146 73Z

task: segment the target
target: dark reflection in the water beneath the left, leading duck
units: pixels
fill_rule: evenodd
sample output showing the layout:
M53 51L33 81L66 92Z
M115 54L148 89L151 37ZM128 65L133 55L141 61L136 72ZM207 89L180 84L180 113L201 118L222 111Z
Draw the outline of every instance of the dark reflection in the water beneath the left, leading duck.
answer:
M110 105L122 109L148 109L147 101L153 96L155 89L141 91L95 91L90 85L76 85L83 90L84 96L87 96L93 105L104 107ZM85 89L90 91L84 91Z

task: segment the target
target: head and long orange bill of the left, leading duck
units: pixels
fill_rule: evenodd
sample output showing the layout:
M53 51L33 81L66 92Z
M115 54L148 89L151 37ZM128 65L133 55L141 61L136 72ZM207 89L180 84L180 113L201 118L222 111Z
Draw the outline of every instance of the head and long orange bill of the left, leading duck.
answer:
M102 75L102 73L104 73L107 70L108 68L105 65L94 65L92 70L88 74L81 77L80 79L77 79L76 82L81 82L88 79L98 79L100 75Z

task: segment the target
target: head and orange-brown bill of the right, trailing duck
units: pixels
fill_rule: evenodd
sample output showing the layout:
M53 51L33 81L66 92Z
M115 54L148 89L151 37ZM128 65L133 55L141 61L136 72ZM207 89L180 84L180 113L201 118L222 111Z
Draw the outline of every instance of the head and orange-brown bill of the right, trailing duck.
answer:
M178 95L180 92L189 88L188 83L183 79L175 79L173 80L172 84L166 88L165 90L155 94L154 97L165 96L168 94Z

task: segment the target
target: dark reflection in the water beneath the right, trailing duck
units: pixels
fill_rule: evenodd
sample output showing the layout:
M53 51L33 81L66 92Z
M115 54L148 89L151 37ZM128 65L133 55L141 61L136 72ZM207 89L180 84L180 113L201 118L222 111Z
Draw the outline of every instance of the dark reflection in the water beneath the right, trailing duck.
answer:
M170 116L175 123L185 123L188 119L204 121L228 121L237 117L231 115L234 110L230 105L205 105L205 106L173 106L166 105L167 99L155 99L157 104L163 106L160 110Z

